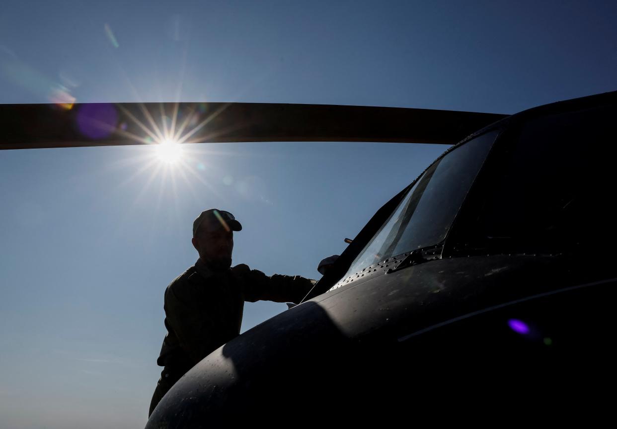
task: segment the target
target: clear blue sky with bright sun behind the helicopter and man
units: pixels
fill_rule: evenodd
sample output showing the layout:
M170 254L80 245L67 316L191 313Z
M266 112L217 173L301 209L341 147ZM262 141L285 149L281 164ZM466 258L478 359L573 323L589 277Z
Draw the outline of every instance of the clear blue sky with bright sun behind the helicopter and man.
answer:
M616 90L614 1L8 1L0 102L244 101L514 113ZM445 146L194 144L0 152L0 427L143 426L191 223L234 264L319 278ZM242 330L286 309L247 304Z

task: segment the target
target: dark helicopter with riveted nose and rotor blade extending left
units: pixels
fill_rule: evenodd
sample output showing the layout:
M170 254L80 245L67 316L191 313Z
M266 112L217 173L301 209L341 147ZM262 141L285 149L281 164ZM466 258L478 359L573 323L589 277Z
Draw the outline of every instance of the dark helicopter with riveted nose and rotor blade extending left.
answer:
M0 148L144 143L133 136L157 109L187 122L205 113L192 143L453 146L346 240L299 305L189 370L146 428L266 416L383 424L407 412L433 423L608 412L617 91L514 115L250 103L5 105ZM84 111L91 113L80 119Z

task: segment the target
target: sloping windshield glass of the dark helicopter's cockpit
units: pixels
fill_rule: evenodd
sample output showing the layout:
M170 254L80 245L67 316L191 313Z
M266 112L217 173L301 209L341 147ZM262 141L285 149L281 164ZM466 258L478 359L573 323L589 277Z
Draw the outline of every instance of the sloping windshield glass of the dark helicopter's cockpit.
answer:
M474 138L434 162L343 278L391 256L440 243L496 136L497 131L492 131Z

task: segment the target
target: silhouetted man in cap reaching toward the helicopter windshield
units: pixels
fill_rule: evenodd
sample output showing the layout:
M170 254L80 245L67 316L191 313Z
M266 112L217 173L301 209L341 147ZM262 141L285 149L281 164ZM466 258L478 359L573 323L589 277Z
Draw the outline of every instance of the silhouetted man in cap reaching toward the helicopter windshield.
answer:
M196 264L165 290L165 327L157 364L165 367L152 396L150 412L197 362L240 333L244 301L300 302L315 280L231 267L233 231L242 225L230 212L209 209L193 222Z

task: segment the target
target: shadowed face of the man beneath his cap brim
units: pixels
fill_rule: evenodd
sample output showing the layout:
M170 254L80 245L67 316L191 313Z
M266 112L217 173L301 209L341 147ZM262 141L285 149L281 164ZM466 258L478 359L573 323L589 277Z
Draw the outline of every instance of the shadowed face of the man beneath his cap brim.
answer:
M209 230L199 228L193 238L193 246L199 257L213 270L225 270L231 267L231 252L233 251L233 231L223 228Z

